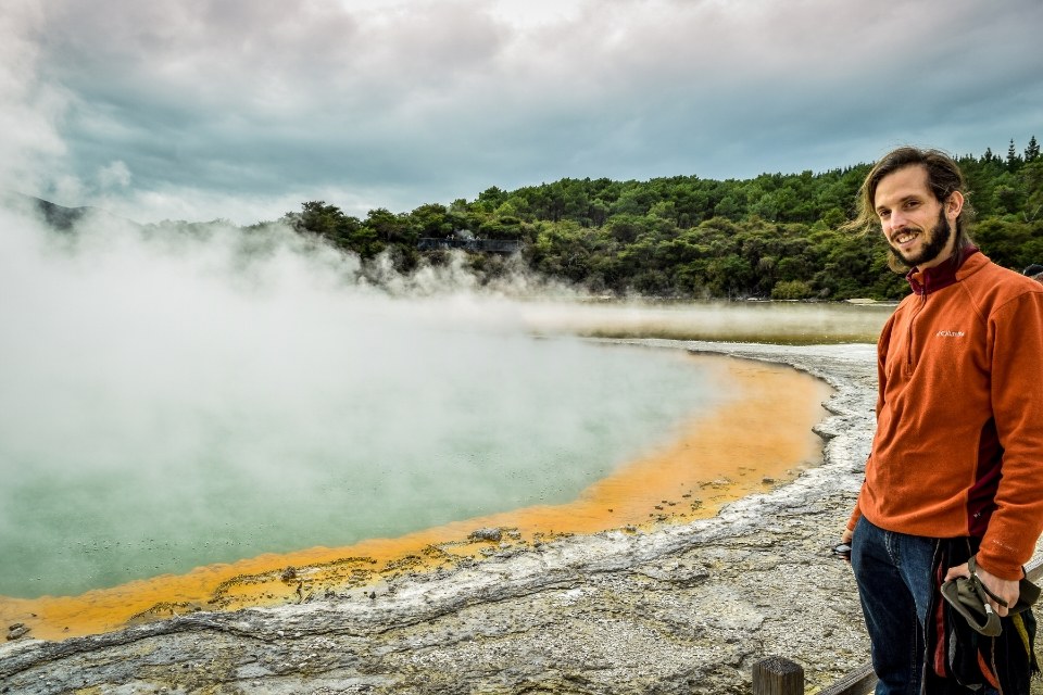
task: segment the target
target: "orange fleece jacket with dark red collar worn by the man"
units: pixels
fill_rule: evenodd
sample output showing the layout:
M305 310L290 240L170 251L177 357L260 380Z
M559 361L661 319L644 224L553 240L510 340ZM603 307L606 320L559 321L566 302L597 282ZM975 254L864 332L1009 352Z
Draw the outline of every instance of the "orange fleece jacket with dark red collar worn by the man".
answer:
M1043 285L972 252L932 291L939 269L880 336L877 431L847 528L864 515L980 538L978 563L1019 579L1043 531Z

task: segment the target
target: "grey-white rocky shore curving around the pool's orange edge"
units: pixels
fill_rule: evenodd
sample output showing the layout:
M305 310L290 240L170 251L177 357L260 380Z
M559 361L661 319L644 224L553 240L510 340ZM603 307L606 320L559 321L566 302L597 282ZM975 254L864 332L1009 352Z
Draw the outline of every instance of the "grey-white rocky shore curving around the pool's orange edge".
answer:
M627 341L829 382L825 462L712 519L561 538L299 605L0 645L0 693L744 693L786 656L812 686L868 658L833 557L872 432L874 346ZM7 628L7 626L4 626Z

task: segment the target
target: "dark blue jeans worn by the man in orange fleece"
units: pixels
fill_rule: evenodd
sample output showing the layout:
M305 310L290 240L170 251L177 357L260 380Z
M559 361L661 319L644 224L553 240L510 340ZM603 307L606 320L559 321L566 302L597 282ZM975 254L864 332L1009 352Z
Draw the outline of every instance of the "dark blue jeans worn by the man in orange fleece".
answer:
M884 531L866 518L855 527L851 567L872 645L877 695L920 692L937 545L937 539Z

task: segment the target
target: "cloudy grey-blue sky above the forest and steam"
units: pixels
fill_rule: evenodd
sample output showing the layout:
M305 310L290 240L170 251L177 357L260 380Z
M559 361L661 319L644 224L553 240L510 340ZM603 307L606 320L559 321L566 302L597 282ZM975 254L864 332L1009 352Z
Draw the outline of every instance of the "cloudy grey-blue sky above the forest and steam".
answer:
M1005 153L1043 136L1040 26L1040 0L9 0L0 185L251 223Z

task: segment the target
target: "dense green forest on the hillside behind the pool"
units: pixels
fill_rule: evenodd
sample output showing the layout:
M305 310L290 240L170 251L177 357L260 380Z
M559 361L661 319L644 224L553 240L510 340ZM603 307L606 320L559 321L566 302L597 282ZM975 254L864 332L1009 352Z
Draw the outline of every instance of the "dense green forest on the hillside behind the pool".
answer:
M956 159L981 250L1019 271L1043 262L1043 157L1035 137L1023 151L1011 140L1006 156L985 150ZM472 201L409 213L372 210L365 219L310 201L280 222L363 262L385 254L402 273L465 253L469 268L488 281L507 271L507 255L422 250L431 248L422 240L500 240L513 242L499 248L514 249L527 267L603 295L893 300L908 286L888 267L882 235L843 229L870 166L745 180L565 178L513 191L492 187Z

